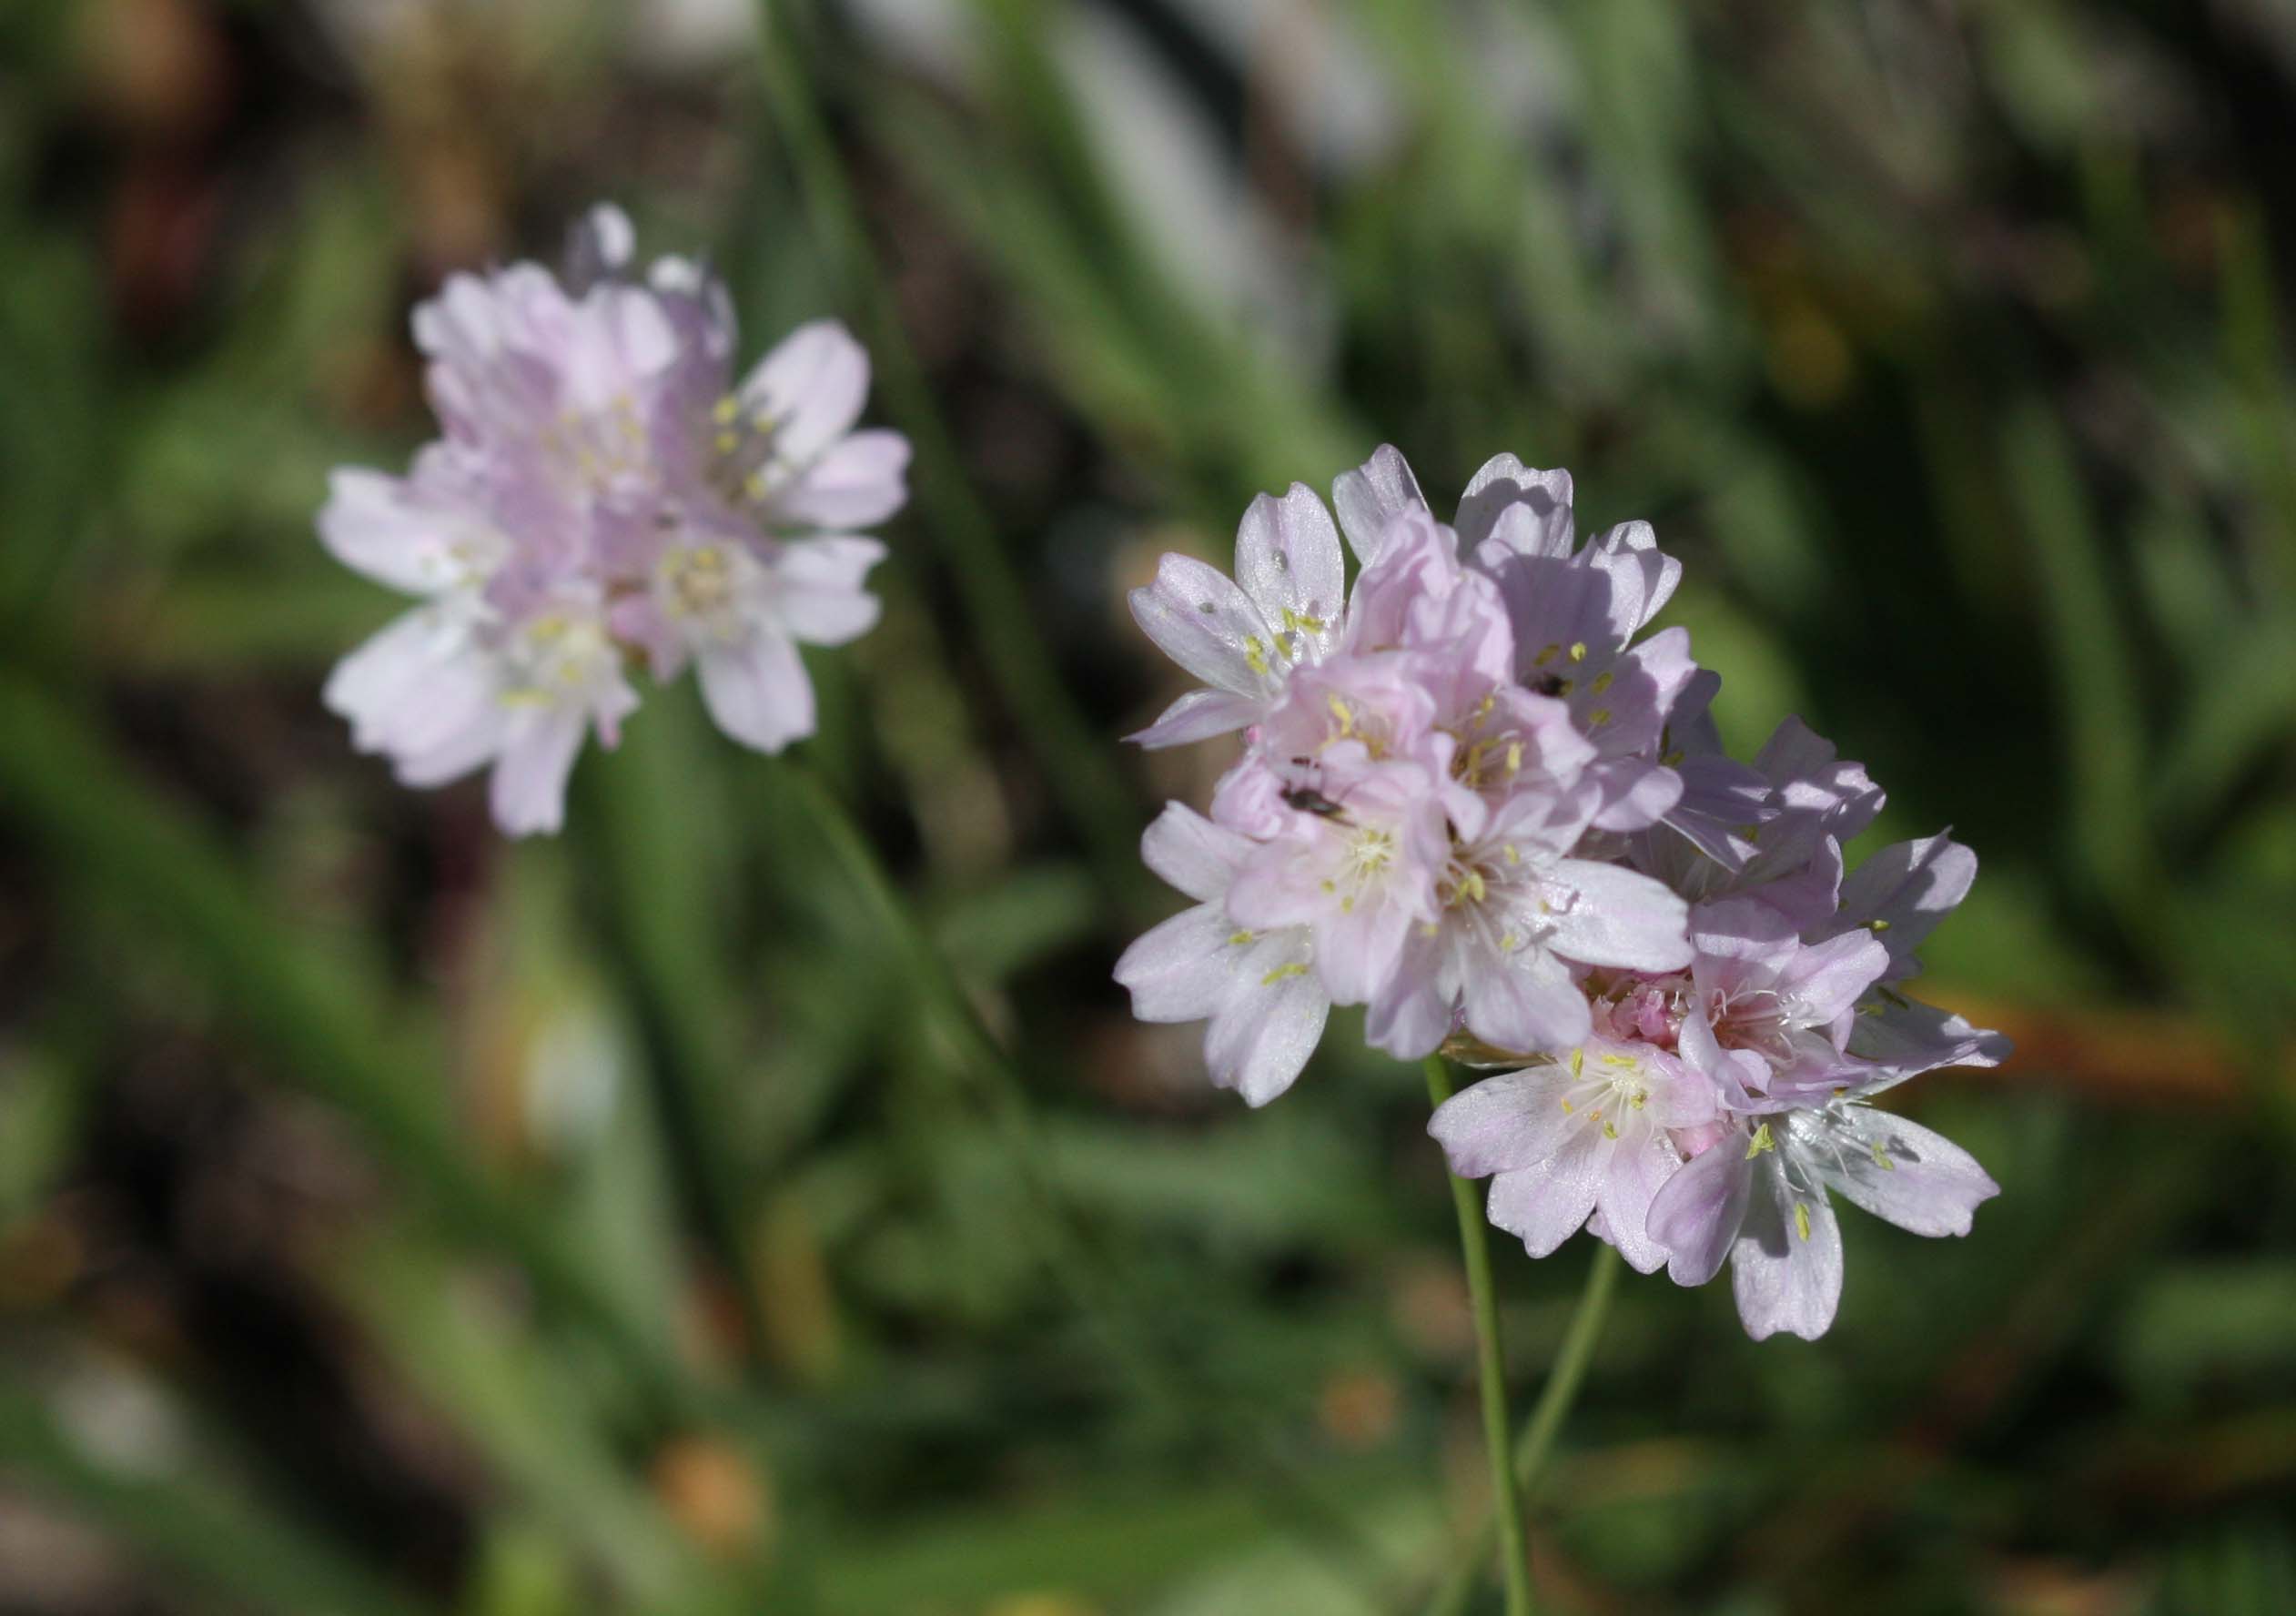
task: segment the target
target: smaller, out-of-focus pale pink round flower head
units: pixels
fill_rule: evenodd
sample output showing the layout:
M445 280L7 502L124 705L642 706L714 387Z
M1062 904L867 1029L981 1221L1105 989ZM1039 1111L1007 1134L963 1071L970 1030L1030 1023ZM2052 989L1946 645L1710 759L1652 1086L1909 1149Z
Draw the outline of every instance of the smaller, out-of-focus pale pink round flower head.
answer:
M813 732L799 645L877 622L856 530L907 498L909 445L854 432L868 356L833 321L735 381L723 285L666 257L631 273L611 207L565 275L455 275L416 310L443 438L404 477L338 471L319 535L420 606L326 684L360 751L406 785L491 767L496 822L556 831L583 739L613 746L627 670L693 663L732 739Z

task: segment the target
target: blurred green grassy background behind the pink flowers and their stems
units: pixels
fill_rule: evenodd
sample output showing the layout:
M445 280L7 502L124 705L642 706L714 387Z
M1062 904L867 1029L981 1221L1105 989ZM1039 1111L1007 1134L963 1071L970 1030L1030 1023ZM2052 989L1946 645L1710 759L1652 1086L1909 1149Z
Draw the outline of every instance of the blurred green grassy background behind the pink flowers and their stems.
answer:
M1623 1285L1548 1607L2296 1609L2291 92L2268 0L16 0L0 1611L1417 1609L1419 1083L1244 1113L1107 980L1208 785L1123 590L1378 441L1651 516L2023 1044L1823 1343ZM918 489L799 760L657 693L512 847L319 709L310 516L595 197L852 319ZM1520 1384L1584 1262L1499 1253Z

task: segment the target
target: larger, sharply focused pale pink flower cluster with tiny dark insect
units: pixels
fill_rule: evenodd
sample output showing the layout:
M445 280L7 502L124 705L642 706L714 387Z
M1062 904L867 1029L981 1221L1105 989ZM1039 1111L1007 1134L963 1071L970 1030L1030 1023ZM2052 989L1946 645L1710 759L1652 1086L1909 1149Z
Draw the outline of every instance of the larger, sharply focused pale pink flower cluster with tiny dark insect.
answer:
M2007 1054L1901 992L1975 856L1933 836L1846 872L1880 792L1795 718L1724 755L1720 677L1644 634L1681 565L1639 521L1580 544L1568 473L1502 454L1442 523L1382 448L1332 505L1261 496L1233 578L1166 556L1132 595L1203 682L1134 739L1244 744L1210 817L1148 829L1196 907L1118 962L1134 1012L1208 1021L1251 1104L1334 1003L1391 1056L1495 1070L1430 1122L1490 1221L1531 1256L1587 1228L1683 1285L1727 1262L1754 1338L1832 1324L1830 1194L1968 1233L1993 1180L1867 1102Z

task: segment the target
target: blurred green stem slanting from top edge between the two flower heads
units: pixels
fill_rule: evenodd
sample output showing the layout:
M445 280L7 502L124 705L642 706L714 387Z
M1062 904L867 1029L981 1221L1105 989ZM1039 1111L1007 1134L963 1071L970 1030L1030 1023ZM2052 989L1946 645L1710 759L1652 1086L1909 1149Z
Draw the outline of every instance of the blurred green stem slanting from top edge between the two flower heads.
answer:
M1084 838L1102 886L1134 907L1143 902L1146 886L1125 829L1137 819L1132 792L1114 753L1077 707L1045 638L1035 634L1033 624L1045 613L1031 604L987 507L964 477L955 436L909 347L820 101L806 80L799 11L792 5L760 5L760 32L767 103L797 168L813 232L833 280L866 317L886 406L916 450L914 482L918 503L930 514L928 530L944 551L980 656L1035 751L1054 799Z

